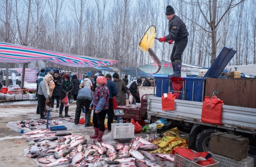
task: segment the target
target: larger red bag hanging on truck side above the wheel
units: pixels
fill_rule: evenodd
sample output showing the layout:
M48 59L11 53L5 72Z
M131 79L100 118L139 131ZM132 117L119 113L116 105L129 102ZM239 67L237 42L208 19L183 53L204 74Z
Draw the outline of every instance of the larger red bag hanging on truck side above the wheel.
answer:
M201 122L221 125L221 112L223 101L216 96L204 97Z

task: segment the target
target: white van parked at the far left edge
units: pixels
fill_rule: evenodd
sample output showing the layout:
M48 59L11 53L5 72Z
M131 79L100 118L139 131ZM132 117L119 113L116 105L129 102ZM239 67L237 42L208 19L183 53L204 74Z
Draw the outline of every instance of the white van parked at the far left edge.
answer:
M9 69L9 85L12 84L12 72L16 75L16 84L20 86L21 80L20 80L20 74L18 74L16 69ZM0 69L0 82L5 86L6 85L6 69Z

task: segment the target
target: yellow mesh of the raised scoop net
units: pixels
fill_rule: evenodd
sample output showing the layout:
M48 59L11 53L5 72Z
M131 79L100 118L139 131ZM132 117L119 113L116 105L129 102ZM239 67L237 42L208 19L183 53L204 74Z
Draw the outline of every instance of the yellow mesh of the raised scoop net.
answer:
M150 26L147 32L144 34L143 38L140 40L140 50L143 52L148 52L148 48L154 46L154 35L156 33L156 27Z

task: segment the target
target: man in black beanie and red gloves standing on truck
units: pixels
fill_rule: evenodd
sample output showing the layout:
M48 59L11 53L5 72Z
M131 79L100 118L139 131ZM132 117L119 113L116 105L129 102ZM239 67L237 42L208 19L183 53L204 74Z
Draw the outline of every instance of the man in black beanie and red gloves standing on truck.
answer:
M182 63L181 56L188 43L189 33L186 29L185 23L180 19L180 17L175 15L175 11L170 5L166 6L166 18L169 20L169 35L160 37L159 41L169 41L169 44L172 44L172 42L175 41L171 54L172 69L174 73L168 76L180 77Z

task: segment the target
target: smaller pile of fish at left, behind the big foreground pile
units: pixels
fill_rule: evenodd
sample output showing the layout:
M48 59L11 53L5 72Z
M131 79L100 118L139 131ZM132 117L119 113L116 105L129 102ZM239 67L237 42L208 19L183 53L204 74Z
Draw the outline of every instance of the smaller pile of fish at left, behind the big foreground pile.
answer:
M46 119L39 119L37 121L35 121L35 120L19 121L16 124L19 127L27 127L27 128L29 128L31 130L35 130L35 129L38 129L38 127L36 127L36 125L46 125L46 123L47 123ZM63 122L59 121L59 120L55 120L55 119L49 119L49 125L60 125L60 124L63 124Z

